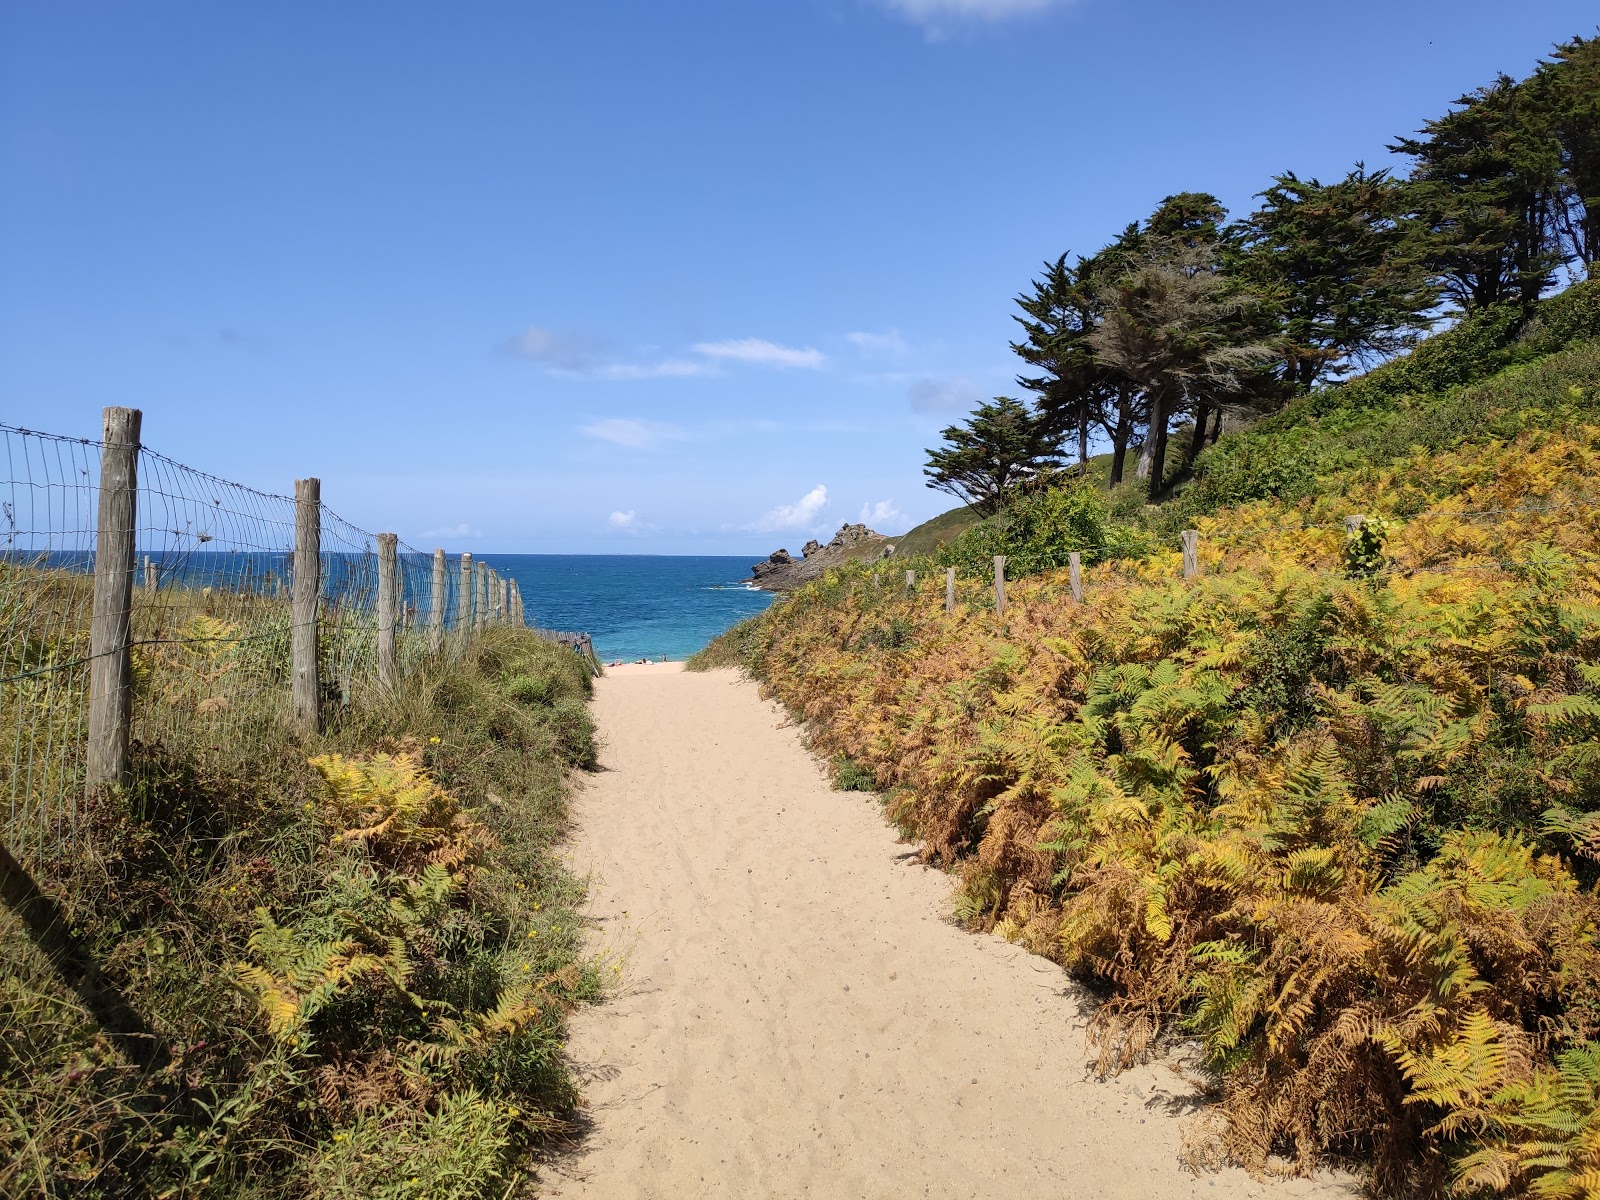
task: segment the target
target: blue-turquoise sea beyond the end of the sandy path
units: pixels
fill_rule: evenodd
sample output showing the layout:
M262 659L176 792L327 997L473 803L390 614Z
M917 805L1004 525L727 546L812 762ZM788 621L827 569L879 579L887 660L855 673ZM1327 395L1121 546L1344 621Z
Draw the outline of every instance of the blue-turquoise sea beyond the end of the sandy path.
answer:
M771 603L750 557L485 554L517 581L528 624L589 634L602 659L682 659Z

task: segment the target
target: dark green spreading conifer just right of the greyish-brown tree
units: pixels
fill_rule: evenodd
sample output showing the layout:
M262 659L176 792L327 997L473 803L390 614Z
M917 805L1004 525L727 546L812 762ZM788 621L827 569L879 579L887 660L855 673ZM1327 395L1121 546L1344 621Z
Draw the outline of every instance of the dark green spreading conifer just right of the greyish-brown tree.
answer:
M1411 248L1410 189L1365 165L1323 184L1285 171L1229 230L1229 270L1274 309L1294 390L1408 349L1438 304Z

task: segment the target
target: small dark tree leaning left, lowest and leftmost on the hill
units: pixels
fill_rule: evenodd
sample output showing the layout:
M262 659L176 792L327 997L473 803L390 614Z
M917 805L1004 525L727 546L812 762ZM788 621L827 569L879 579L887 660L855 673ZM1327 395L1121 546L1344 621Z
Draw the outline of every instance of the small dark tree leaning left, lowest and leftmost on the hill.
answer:
M1042 470L1061 466L1058 438L1021 400L997 395L965 424L942 430L944 445L928 451L928 486L949 491L986 517L997 514L1011 490Z

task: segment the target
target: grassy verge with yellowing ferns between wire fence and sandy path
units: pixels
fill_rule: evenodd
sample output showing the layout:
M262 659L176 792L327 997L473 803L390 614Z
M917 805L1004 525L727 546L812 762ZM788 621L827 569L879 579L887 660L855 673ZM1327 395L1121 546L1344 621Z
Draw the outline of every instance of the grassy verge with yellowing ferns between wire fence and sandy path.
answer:
M253 669L232 653L213 693ZM594 755L581 664L494 627L325 738L259 714L226 744L176 670L141 670L168 710L133 784L32 864L150 1037L91 1018L5 912L0 1192L515 1194L571 1120L562 1026L598 984L552 850Z

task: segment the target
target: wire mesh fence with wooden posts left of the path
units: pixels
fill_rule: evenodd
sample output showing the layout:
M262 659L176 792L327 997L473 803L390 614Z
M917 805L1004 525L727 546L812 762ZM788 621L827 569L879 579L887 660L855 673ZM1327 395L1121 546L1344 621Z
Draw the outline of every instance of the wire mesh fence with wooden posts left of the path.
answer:
M134 755L205 765L261 720L317 733L490 626L522 594L470 554L368 533L315 478L275 496L174 462L141 414L104 438L0 426L0 792L38 861Z

